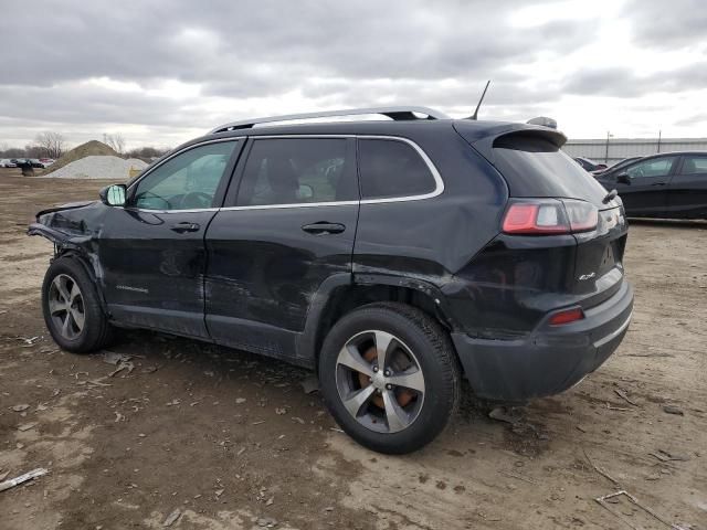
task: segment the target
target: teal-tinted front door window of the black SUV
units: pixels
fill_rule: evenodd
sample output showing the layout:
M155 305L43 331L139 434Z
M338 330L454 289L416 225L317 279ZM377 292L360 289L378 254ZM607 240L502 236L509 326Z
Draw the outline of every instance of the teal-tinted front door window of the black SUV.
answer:
M169 159L138 182L133 205L144 210L212 208L235 144L207 144Z

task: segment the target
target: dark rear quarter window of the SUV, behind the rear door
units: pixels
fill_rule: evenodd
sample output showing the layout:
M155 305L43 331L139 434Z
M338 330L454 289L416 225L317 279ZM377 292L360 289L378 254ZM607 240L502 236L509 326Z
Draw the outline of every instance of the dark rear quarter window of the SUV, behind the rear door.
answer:
M358 142L362 199L390 199L431 193L436 182L420 153L399 140Z

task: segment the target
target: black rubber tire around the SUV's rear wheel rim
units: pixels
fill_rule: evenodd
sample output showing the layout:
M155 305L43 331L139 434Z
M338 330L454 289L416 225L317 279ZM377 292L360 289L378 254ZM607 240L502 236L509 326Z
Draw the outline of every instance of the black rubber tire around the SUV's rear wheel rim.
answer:
M348 370L339 364L339 352L345 346L350 344L351 340L356 340L357 336L365 336L367 330L384 331L394 336L398 342L404 342L404 347L413 353L424 378L424 392L420 394L423 395L423 400L416 416L398 432L376 432L362 424L349 413L341 396L341 392L345 391L339 391L339 378L347 375L340 375L342 372L337 370ZM357 371L351 373L355 374L352 384L356 385L356 378L360 380L360 374ZM461 377L450 336L436 320L405 304L379 303L351 311L331 328L319 356L319 384L331 415L349 436L379 453L407 454L432 442L447 425L458 405ZM368 386L373 383L360 384ZM384 393L386 390L380 392ZM378 406L380 410L380 405ZM384 424L390 427L387 417L386 413ZM376 425L373 427L379 428Z

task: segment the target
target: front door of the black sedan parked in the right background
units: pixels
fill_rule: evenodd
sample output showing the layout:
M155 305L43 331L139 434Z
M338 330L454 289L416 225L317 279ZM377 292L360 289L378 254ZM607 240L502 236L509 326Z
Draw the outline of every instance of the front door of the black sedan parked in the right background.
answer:
M640 160L600 181L609 189L616 189L627 215L665 215L667 184L676 159L675 156L664 156Z

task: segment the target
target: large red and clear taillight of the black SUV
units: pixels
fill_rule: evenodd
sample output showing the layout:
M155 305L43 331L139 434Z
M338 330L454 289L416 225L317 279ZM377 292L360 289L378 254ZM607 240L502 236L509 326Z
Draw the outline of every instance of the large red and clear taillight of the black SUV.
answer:
M583 201L530 199L508 206L503 231L507 234L570 234L597 227L599 210Z

